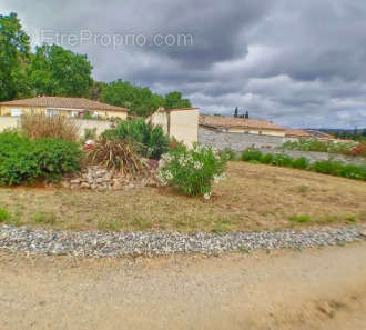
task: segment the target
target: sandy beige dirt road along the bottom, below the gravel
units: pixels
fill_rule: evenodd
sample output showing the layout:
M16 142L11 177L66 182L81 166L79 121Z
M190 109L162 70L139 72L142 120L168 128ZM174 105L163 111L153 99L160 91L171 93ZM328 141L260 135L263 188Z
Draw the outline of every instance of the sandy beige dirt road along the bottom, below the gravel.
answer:
M366 329L366 243L224 257L0 253L0 329Z

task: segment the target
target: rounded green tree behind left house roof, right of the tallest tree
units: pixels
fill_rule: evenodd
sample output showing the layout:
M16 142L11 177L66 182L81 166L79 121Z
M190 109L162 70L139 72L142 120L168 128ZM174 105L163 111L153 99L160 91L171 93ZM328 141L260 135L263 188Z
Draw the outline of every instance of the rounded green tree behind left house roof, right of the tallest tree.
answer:
M87 97L92 86L92 66L87 56L61 46L38 47L28 68L34 94Z

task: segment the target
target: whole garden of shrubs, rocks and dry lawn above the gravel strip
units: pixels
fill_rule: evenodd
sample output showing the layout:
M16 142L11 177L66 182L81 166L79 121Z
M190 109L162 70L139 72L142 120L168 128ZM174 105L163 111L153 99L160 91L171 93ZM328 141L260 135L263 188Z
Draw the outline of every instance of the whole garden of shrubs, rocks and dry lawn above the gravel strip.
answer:
M228 152L189 149L142 120L121 122L82 150L68 120L22 122L0 134L3 224L221 234L366 221L365 182L297 170L309 169L306 159L247 150L242 159L256 164L227 166ZM331 169L364 178L359 168Z

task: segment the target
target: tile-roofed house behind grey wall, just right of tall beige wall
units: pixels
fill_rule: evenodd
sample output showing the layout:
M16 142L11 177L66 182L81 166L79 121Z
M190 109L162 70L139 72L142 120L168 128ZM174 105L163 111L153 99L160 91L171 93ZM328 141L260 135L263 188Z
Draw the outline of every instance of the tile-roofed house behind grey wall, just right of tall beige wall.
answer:
M231 133L285 137L284 128L261 119L200 114L199 124L202 128Z

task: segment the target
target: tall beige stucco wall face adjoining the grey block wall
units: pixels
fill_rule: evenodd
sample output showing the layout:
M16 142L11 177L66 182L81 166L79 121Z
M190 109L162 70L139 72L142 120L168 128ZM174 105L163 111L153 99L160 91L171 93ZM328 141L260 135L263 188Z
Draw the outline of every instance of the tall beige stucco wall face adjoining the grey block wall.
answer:
M199 141L199 109L170 111L170 136L191 147Z

